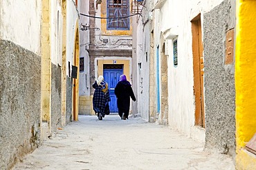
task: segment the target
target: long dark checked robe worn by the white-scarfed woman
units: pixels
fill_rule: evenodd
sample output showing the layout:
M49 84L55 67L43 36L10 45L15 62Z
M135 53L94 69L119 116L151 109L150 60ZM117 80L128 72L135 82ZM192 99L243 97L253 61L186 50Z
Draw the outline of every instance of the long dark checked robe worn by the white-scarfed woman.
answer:
M110 101L109 91L106 93L102 91L102 87L95 83L93 84L93 88L95 89L93 94L93 110L95 114L100 113L104 117L106 104Z

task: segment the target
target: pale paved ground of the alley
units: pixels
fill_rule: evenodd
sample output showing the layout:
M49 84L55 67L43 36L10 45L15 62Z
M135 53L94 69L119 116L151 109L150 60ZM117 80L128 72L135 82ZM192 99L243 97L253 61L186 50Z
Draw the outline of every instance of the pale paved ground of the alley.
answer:
M226 155L140 118L80 116L45 140L13 169L235 169Z

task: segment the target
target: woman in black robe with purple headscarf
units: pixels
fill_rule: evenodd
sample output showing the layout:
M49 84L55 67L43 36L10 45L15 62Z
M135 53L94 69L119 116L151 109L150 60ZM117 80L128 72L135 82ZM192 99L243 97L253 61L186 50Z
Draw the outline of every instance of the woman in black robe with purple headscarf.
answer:
M118 114L121 119L128 119L130 109L130 97L136 101L131 83L127 81L125 74L120 76L120 81L115 88L116 98L118 98Z

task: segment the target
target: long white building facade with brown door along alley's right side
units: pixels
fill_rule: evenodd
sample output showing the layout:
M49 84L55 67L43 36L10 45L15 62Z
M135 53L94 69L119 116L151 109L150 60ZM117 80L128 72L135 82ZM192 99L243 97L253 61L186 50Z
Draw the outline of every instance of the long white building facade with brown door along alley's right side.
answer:
M141 72L134 69L138 71L136 90L142 118L205 142L205 110L209 111L210 105L205 105L203 39L208 25L203 25L204 15L216 8L225 9L224 4L233 9L232 3L145 1L142 15L133 23L134 65L138 64L138 69L143 67ZM207 95L209 101L212 94Z

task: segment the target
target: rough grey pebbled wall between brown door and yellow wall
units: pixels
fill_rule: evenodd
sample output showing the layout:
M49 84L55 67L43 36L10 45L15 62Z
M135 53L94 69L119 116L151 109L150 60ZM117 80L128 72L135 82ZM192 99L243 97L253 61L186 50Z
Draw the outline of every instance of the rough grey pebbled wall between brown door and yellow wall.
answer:
M235 27L230 0L203 15L205 147L235 156L234 65L224 65L226 32Z

